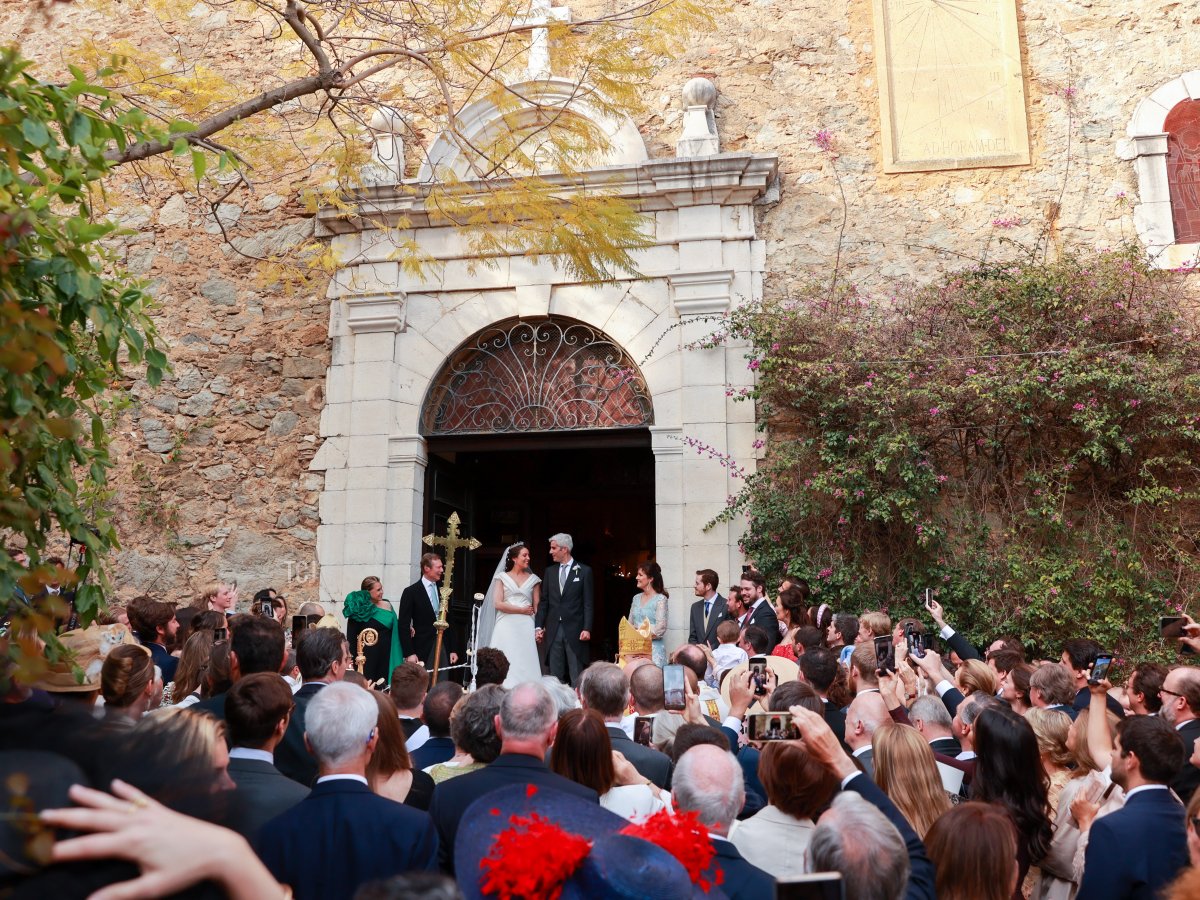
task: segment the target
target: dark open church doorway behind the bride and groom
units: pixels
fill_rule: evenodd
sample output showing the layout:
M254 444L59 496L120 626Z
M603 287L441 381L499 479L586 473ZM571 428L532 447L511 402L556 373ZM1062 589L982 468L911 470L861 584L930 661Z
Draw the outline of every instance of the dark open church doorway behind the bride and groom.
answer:
M430 438L425 534L444 534L457 511L462 533L482 547L460 551L448 640L461 654L472 598L504 548L529 546L533 570L550 565L550 535L575 539L575 557L595 575L593 659L613 659L617 623L636 593L637 564L654 556L654 456L644 428L536 436Z

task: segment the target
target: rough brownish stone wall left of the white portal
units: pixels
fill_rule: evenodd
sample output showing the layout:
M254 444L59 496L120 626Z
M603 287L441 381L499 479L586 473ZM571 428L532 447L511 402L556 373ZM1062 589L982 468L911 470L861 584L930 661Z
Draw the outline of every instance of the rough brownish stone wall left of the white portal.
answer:
M65 35L86 35L102 47L169 41L138 7L126 4L113 18L59 6L50 25L28 8L8 7L0 34L41 62L43 77L54 77L65 68ZM175 23L179 31L223 47L218 55L230 65L264 72L272 65L236 14L196 12L204 14ZM325 283L300 290L264 283L251 258L311 236L312 218L295 194L301 185L239 191L221 206L220 226L194 182L188 190L125 167L107 187L112 211L133 232L112 248L131 272L150 280L154 319L174 365L157 389L131 378L110 427L118 596L150 590L186 604L222 578L236 580L245 599L275 587L293 604L314 600L324 479L307 464L329 365Z

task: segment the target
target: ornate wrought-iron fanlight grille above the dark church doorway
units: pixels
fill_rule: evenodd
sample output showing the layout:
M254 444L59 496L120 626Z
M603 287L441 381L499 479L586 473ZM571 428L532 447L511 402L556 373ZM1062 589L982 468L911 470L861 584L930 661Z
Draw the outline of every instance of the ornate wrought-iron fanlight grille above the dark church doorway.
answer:
M424 434L505 434L652 425L646 383L606 335L575 322L494 325L446 360Z

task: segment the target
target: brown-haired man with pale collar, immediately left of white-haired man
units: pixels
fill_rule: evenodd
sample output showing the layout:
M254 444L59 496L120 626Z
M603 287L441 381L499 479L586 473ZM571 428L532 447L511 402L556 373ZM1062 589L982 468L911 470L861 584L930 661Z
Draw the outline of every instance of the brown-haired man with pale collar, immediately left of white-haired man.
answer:
M226 698L229 778L238 785L238 830L254 844L269 820L295 806L308 788L275 768L275 748L292 718L292 689L269 672L247 676Z

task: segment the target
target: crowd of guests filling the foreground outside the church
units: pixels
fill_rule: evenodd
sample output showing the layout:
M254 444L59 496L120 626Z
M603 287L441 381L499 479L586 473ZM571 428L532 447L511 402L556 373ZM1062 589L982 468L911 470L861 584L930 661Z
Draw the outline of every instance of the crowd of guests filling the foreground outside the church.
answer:
M324 610L293 641L274 590L248 614L235 586L138 598L36 683L10 672L0 890L769 898L828 872L851 900L1200 896L1200 668L1114 686L1093 641L977 648L932 601L892 622L752 570L695 587L686 643L509 689L494 648L469 689L412 660L377 689Z

